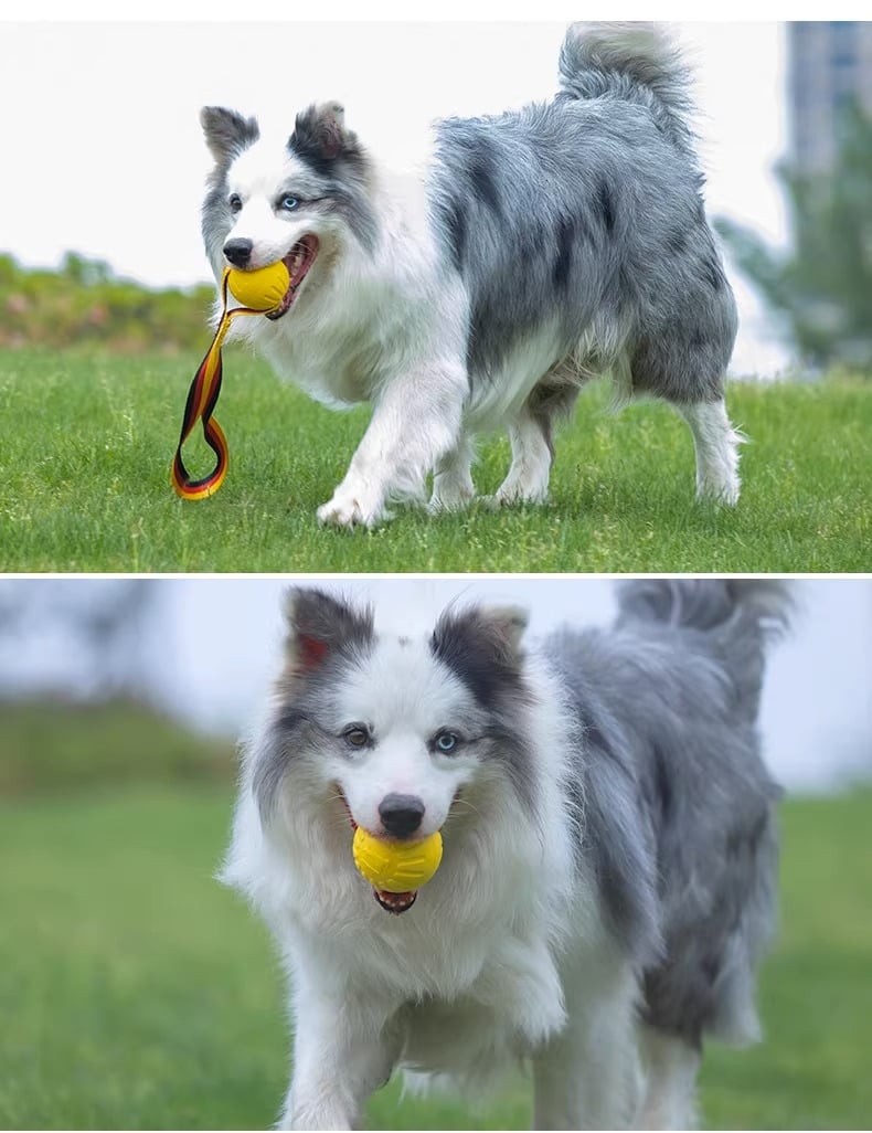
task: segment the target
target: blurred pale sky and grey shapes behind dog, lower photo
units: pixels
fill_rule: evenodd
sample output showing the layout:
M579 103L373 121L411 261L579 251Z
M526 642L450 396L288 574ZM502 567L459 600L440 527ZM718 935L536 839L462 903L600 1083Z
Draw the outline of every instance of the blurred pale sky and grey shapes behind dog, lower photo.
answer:
M616 610L605 579L316 582L371 603L381 621L405 632L426 632L454 600L519 603L530 611L531 634L564 622L608 624ZM793 585L797 629L773 650L763 696L767 757L789 790L833 791L872 776L872 581ZM122 700L232 742L279 671L287 586L279 578L0 579L0 706L79 710ZM42 707L35 718L44 719ZM114 759L129 763L123 748Z

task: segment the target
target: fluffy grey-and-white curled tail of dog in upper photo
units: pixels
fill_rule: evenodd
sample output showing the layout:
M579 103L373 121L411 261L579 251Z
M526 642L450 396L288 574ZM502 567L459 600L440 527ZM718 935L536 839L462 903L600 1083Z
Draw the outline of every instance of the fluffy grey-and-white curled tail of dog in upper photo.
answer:
M658 25L573 24L561 48L558 69L566 96L647 105L662 133L691 150L691 73Z

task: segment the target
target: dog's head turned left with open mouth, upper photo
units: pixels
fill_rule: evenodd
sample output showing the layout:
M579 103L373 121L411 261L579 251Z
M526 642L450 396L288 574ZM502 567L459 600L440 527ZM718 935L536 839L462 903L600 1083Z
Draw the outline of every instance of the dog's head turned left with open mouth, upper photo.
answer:
M268 317L281 318L347 248L375 241L370 165L339 103L297 116L287 142L260 136L256 119L205 107L200 122L215 159L203 204L203 238L216 276L282 259L290 286Z

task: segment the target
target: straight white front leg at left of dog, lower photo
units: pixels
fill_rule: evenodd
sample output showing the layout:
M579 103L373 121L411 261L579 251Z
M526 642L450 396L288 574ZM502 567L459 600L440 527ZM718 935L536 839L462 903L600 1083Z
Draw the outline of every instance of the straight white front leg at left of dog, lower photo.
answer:
M358 1128L399 1054L384 1005L313 987L298 993L293 1014L293 1071L279 1127Z

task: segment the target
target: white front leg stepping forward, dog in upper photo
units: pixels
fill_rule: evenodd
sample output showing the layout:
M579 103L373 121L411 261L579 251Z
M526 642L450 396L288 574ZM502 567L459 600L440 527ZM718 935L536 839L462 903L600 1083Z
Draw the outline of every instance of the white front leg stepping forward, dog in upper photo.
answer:
M416 500L437 460L460 433L467 378L456 363L434 363L383 383L373 419L322 523L375 527L388 500Z

